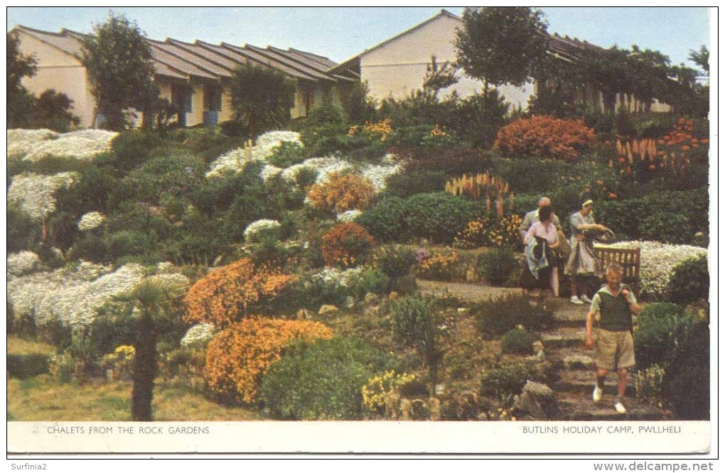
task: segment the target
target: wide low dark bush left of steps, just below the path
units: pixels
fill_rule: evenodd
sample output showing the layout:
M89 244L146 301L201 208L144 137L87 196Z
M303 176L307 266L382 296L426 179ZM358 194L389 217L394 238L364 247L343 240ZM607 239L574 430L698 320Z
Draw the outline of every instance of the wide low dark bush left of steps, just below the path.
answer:
M493 338L521 325L526 330L546 330L554 314L523 295L508 295L481 301L471 308L482 335Z

